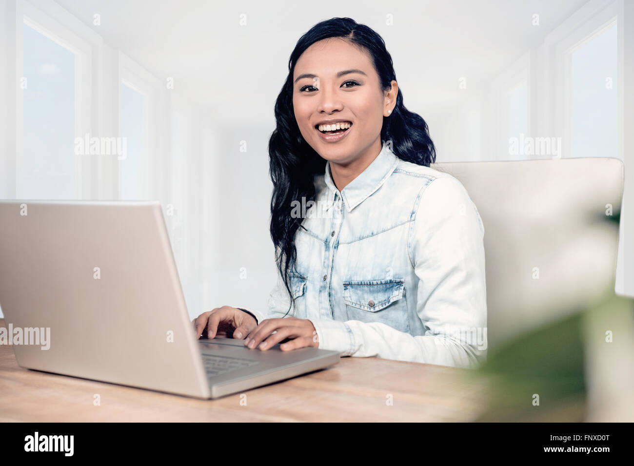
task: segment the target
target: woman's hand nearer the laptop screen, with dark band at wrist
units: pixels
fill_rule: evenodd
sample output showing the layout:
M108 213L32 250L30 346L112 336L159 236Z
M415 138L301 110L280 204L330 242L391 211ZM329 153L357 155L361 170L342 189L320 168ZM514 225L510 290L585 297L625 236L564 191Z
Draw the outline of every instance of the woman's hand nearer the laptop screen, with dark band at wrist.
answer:
M216 309L202 313L191 323L196 328L198 338L203 330L207 330L207 338L209 339L218 336L224 337L228 333L231 333L235 339L243 339L257 327L257 321L253 316L230 306L216 307Z

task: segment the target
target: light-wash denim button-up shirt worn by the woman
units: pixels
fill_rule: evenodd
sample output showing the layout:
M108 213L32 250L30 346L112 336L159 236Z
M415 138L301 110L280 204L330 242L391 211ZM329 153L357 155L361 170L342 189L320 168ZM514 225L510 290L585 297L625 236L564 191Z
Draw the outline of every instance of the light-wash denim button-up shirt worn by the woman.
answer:
M295 234L295 307L278 272L268 313L310 320L340 356L475 368L486 358L484 227L458 179L387 143L341 191L326 162ZM299 202L297 203L299 204Z

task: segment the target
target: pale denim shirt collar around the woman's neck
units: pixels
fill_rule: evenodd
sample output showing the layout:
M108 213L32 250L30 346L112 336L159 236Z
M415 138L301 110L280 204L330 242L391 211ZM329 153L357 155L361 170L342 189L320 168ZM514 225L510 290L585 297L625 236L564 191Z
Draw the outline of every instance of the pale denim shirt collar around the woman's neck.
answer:
M326 162L324 180L328 188L333 191L333 195L334 193L340 194L346 204L346 210L350 212L385 183L385 180L392 174L396 165L398 165L398 158L389 148L389 145L384 142L381 152L378 153L377 158L372 161L372 164L368 165L359 176L348 183L340 193L332 181L330 162Z

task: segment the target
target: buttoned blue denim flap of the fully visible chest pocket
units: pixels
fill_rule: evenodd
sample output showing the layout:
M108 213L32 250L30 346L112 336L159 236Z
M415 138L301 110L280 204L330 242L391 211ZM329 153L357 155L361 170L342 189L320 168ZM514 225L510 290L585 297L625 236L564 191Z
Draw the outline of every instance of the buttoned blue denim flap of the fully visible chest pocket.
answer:
M405 295L405 282L402 278L352 280L343 285L346 304L371 313L380 311Z

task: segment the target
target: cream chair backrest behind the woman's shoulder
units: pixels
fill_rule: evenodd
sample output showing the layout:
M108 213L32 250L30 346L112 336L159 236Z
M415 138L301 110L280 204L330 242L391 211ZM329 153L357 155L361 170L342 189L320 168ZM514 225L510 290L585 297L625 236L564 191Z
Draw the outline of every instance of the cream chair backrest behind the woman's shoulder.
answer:
M441 162L484 225L489 348L614 290L619 159ZM611 209L611 210L610 210Z

